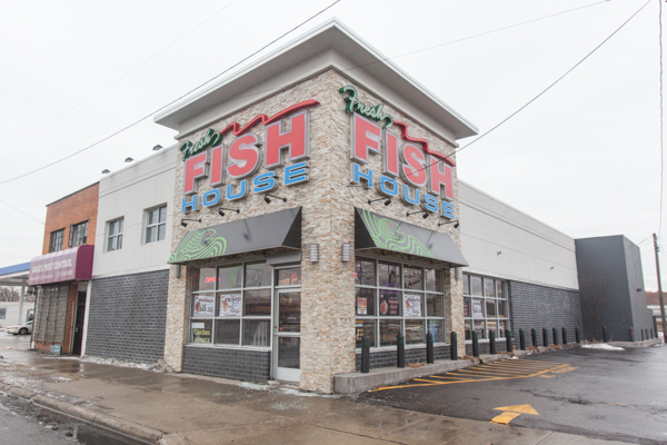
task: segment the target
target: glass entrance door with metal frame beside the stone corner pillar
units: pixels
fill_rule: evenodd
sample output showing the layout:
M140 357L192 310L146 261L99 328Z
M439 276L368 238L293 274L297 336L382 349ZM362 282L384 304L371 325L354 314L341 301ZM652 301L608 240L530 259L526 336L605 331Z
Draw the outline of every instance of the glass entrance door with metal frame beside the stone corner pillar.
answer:
M273 333L273 377L299 382L301 346L301 291L278 290Z

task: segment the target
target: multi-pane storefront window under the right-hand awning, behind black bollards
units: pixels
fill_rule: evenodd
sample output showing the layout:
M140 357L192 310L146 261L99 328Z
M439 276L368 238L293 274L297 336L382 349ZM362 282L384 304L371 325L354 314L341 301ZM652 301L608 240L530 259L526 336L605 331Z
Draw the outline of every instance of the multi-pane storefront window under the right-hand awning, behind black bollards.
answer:
M445 342L442 270L357 258L355 284L357 347L364 335L371 347L396 345L398 334L407 345L424 345L427 333Z

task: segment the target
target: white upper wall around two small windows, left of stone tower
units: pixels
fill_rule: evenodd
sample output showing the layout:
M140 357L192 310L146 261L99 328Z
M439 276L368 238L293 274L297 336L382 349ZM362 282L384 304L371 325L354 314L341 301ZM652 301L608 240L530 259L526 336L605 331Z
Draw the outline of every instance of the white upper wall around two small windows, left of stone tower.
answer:
M176 181L177 146L157 151L100 180L98 229L92 277L167 269L171 249L171 216ZM145 243L145 210L167 205L165 239ZM107 251L109 221L123 217L120 250Z

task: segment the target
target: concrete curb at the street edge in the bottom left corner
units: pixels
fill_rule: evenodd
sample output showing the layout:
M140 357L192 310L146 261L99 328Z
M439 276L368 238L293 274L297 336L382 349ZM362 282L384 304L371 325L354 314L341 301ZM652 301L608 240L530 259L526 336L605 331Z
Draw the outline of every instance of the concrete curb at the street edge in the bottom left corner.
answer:
M162 438L162 432L150 426L143 426L130 421L113 417L108 414L97 413L92 409L60 402L53 397L33 393L18 386L0 384L0 390L13 398L23 398L27 402L68 417L76 418L92 426L112 431L120 435L130 437L146 444L158 444Z

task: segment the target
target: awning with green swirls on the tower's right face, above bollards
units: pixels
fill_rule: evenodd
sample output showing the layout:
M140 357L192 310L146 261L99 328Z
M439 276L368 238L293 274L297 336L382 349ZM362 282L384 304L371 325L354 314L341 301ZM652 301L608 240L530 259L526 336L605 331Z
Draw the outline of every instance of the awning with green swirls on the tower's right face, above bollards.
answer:
M355 208L355 249L385 249L468 266L454 239L424 227Z

